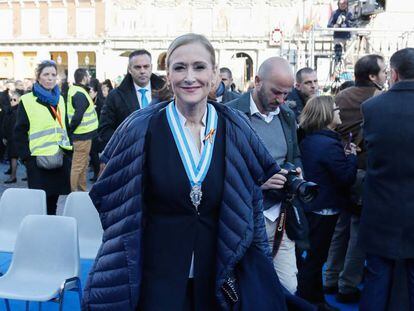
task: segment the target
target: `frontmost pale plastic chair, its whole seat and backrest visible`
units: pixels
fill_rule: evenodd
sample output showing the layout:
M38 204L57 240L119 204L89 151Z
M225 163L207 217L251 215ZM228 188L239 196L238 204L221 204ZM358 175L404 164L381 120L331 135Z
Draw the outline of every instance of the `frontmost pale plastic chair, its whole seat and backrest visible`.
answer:
M78 229L72 217L29 215L20 226L12 262L0 277L0 298L55 301L62 310L66 290L78 291L81 301Z

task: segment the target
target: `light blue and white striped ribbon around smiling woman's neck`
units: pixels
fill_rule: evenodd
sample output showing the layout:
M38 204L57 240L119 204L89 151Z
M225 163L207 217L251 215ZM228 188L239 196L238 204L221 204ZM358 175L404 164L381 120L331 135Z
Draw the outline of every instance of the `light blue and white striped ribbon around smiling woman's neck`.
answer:
M181 161L183 162L190 184L192 187L194 185L200 186L207 175L211 158L213 156L218 120L216 109L213 105L207 104L207 125L205 134L209 136L209 139L205 139L203 152L198 163L195 163L195 160L191 154L191 150L184 134L184 129L180 123L177 107L174 101L168 104L166 112L168 124L174 136L174 141L178 152L180 153Z

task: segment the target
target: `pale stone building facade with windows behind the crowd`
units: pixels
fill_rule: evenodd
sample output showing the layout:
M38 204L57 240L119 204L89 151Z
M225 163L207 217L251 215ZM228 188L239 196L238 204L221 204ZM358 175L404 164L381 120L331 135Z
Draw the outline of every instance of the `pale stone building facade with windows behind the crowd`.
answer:
M378 23L392 28L398 25L388 21L399 19L414 29L410 3L387 0L390 13ZM315 38L309 46L311 29L325 27L335 8L334 0L0 0L0 79L33 78L44 59L57 62L61 79L72 81L78 67L100 80L120 79L126 56L139 48L163 74L171 40L196 32L211 40L219 65L242 88L270 56L287 57L295 69L314 64L319 47Z

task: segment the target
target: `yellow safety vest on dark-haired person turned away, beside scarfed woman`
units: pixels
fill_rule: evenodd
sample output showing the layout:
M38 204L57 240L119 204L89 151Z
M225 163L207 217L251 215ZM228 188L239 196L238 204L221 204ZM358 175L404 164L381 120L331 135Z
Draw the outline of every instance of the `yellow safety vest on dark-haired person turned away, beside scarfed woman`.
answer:
M98 116L96 114L95 106L92 101L92 98L89 96L88 92L86 92L86 90L80 86L72 85L68 91L68 103L67 103L69 124L72 121L73 115L75 113L75 108L73 108L73 104L72 104L72 97L78 92L86 96L89 102L89 106L86 109L85 113L83 114L81 123L73 131L73 134L85 134L85 133L92 132L98 128Z

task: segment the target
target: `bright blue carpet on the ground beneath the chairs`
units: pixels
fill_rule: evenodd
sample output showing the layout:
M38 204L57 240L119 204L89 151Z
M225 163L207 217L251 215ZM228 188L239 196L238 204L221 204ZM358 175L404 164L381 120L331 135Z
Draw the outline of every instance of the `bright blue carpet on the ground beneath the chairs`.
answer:
M11 254L9 253L0 253L0 271L5 273L7 268L10 265L11 261ZM88 272L91 269L93 264L92 260L81 260L81 282L82 287L85 286L86 278L88 276ZM0 299L0 310L6 310L4 300ZM336 302L334 295L327 295L326 300L341 309L341 311L357 311L358 305L356 304L341 304ZM23 311L25 310L25 302L24 301L17 301L17 300L10 300L10 308L12 311ZM30 310L37 310L38 306L37 303L30 304ZM58 310L58 304L54 302L45 302L42 303L42 310L43 311L55 311ZM79 299L78 294L76 292L67 292L64 297L63 303L63 310L67 311L76 311L80 310L79 306Z

